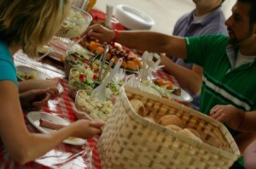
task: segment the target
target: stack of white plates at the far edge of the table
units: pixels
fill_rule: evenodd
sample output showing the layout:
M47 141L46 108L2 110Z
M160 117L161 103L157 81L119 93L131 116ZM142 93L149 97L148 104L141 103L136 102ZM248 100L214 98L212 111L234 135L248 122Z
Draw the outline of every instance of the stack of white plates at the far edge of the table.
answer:
M122 25L131 30L150 30L154 25L154 20L148 14L125 4L118 5L114 15Z

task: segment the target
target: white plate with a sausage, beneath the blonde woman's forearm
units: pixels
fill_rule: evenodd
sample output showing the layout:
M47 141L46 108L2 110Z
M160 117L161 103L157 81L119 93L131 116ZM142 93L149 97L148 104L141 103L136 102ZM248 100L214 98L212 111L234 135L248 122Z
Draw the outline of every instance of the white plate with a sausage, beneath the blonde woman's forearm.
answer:
M59 116L56 115L51 115L49 113L45 113L45 112L40 112L40 111L31 111L27 114L27 119L28 121L30 121L32 123L32 125L36 128L38 128L38 130L40 132L44 132L44 133L49 133L49 132L55 132L55 130L46 128L46 127L40 127L40 119L45 119L47 121L52 121L55 122L57 124L61 124L61 125L69 125L69 122L62 119ZM85 144L87 141L85 139L82 138L67 138L63 141L63 143L65 144L73 144L73 145L83 145Z

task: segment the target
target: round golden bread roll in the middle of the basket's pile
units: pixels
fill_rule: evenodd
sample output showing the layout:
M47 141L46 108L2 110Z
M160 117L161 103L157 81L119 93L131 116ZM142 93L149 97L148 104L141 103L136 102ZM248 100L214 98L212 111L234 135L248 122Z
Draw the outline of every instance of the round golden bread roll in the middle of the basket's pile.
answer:
M164 127L172 124L172 125L176 125L177 127L183 128L183 123L177 117L177 115L164 115L160 117L160 119L157 122Z

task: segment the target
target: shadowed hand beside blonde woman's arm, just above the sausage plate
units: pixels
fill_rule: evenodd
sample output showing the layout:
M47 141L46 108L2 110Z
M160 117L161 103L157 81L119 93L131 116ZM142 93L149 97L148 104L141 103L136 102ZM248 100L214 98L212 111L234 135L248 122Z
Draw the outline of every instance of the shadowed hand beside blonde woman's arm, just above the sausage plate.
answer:
M20 93L22 109L40 110L50 99L49 89L33 89Z

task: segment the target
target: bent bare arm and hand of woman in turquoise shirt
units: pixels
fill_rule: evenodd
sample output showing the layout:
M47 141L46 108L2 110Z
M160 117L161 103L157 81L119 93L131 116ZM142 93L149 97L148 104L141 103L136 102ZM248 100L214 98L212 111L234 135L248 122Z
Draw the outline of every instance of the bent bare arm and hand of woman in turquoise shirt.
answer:
M44 155L67 137L90 138L102 132L102 123L80 120L50 134L30 133L26 129L15 83L0 82L0 93L1 138L12 158L21 164Z

